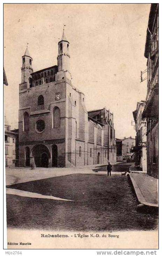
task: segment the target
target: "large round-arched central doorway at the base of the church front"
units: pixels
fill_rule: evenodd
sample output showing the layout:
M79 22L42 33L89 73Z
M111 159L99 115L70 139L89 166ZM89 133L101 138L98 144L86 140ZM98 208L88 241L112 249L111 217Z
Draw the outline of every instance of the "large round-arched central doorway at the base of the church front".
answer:
M49 159L51 154L47 146L44 144L37 144L32 148L31 155L34 157L36 167L49 167Z

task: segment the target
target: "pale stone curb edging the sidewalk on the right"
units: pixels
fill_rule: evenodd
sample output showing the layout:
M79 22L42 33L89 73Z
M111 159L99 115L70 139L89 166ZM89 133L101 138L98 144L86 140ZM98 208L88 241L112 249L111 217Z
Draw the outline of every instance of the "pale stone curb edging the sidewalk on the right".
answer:
M133 188L134 188L134 191L135 191L135 195L136 195L136 197L138 199L138 202L140 204L144 204L144 206L147 206L147 207L154 207L156 209L159 208L158 204L148 203L145 200L145 197L142 195L141 190L139 189L139 187L138 187L137 183L135 182L134 178L132 177L132 175L129 173L128 176L131 179L131 182L132 182L132 185L133 185Z

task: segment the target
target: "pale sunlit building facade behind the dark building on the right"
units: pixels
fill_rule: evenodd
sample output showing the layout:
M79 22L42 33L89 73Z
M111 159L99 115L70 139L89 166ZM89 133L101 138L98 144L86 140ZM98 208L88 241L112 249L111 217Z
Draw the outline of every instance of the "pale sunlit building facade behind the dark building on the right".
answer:
M131 152L135 153L135 166L142 171L147 171L147 122L142 119L142 113L146 106L146 101L137 102L137 108L133 112L135 122L135 147L131 148Z

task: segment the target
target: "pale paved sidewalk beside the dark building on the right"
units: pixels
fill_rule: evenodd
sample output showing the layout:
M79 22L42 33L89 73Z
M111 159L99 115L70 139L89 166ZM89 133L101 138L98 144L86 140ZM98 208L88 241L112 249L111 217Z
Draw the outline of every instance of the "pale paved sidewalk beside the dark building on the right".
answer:
M129 176L139 203L149 207L158 207L159 180L142 173L130 173Z

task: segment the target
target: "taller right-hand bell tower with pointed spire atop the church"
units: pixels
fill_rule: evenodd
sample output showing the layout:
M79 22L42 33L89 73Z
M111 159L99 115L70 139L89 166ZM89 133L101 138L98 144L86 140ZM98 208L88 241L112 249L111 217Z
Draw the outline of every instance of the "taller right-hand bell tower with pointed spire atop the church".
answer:
M69 42L66 39L63 30L62 38L58 42L58 71L64 70L70 72L70 55L69 55Z

